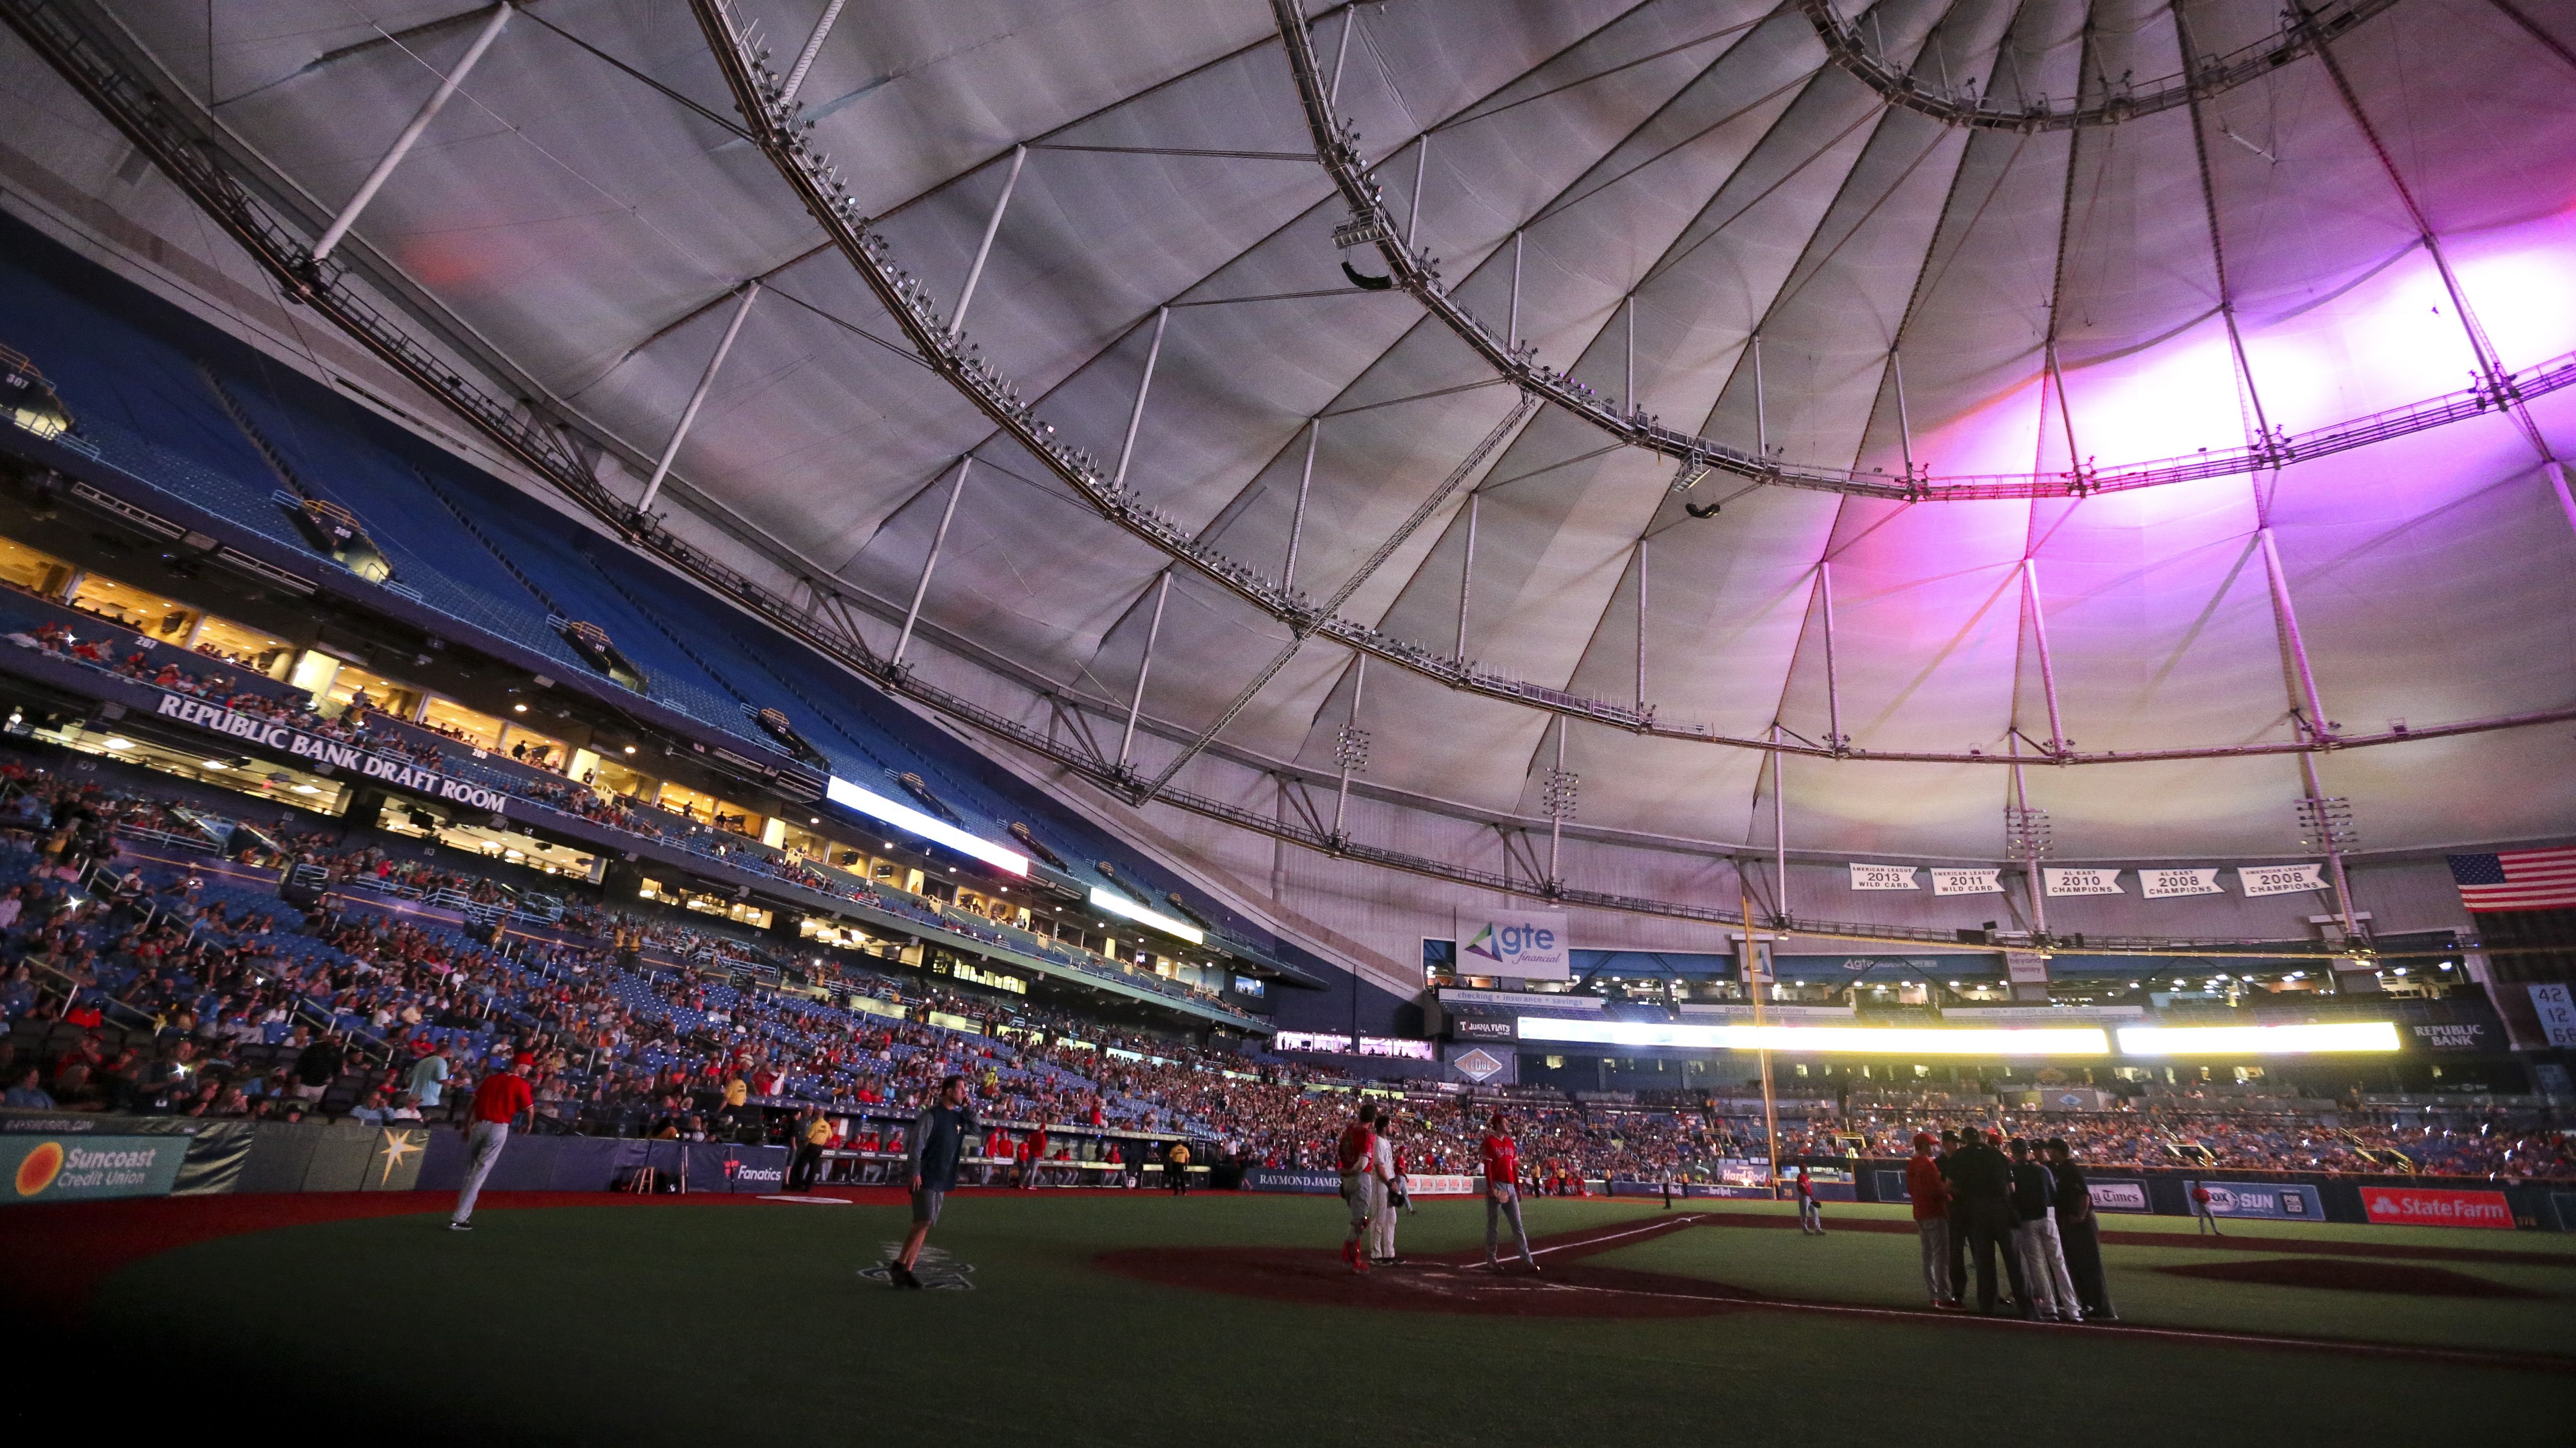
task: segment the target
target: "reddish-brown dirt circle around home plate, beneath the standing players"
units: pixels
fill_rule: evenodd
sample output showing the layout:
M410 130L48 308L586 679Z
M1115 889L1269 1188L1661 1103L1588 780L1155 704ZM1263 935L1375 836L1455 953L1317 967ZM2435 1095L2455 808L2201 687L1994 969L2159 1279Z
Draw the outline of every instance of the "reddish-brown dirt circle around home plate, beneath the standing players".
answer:
M1752 1293L1620 1268L1548 1262L1499 1273L1437 1257L1352 1273L1329 1250L1298 1247L1146 1247L1105 1252L1097 1262L1123 1278L1270 1301L1378 1306L1391 1311L1471 1311L1494 1317L1708 1317L1749 1306Z

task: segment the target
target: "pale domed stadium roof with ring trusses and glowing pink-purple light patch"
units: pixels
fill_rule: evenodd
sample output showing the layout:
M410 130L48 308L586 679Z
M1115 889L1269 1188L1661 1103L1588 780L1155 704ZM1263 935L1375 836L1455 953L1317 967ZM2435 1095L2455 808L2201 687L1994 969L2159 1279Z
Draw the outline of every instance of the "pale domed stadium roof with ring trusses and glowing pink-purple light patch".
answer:
M489 15L113 10L319 216ZM2295 848L2303 760L2375 848L2576 819L2548 8L696 10L518 10L343 260L629 500L732 338L672 526L881 649L943 538L909 660L1105 752L1144 670L1141 781L1355 727L1378 799L1528 822L1564 768L1708 845L1772 837L1767 745L1816 850L1996 858L2012 755L2076 858ZM801 155L737 108L788 85Z

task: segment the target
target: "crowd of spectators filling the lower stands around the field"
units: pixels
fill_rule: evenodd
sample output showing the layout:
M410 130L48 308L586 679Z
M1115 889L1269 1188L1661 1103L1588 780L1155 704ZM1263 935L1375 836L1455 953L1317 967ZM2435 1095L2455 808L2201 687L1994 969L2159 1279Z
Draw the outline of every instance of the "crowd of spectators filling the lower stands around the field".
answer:
M0 958L10 964L0 1018L44 1028L0 1041L10 1105L438 1121L482 1072L526 1054L541 1129L716 1136L757 1134L770 1126L762 1108L804 1103L891 1121L940 1077L963 1074L992 1121L1182 1134L1218 1159L1324 1170L1365 1087L1394 1110L1412 1170L1476 1170L1481 1100L1399 1095L1329 1064L1108 1028L853 958L811 964L817 979L788 984L775 951L677 912L574 897L544 933L469 930L381 897L507 899L471 866L327 832L234 830L237 858L319 873L322 899L307 915L273 886L260 897L185 868L152 879L118 858L118 830L224 832L167 799L0 765ZM70 1041L54 1025L70 1025ZM59 1049L36 1056L39 1038ZM1765 1147L1757 1121L1713 1103L1522 1092L1515 1118L1522 1157L1553 1190L1602 1177L1705 1180ZM1914 1131L1940 1126L1929 1110L1824 1118L1785 1131L1780 1154L1904 1157ZM2009 1129L2063 1136L2097 1165L2576 1177L2566 1131L2509 1118L2324 1126L2316 1116L2128 1108L2032 1113Z

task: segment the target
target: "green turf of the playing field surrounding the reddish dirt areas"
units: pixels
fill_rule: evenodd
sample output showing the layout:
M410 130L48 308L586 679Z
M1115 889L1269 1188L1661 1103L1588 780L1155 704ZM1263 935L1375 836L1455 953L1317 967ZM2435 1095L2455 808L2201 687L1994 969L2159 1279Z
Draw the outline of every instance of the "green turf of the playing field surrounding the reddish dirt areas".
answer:
M1497 1448L1847 1433L2154 1448L2576 1440L2576 1376L2527 1366L1953 1317L1378 1311L1154 1286L1092 1265L1113 1247L1332 1247L1342 1216L1332 1198L963 1196L933 1244L974 1265L969 1293L858 1278L904 1232L899 1206L603 1201L487 1208L474 1234L443 1232L443 1206L420 1198L422 1214L245 1232L131 1260L90 1288L80 1335L57 1337L70 1345L57 1366L67 1376L44 1378L46 1394L10 1394L10 1417L36 1427L100 1394L88 1407L131 1422L165 1412L201 1415L204 1427L330 1425L361 1443L636 1448L1324 1438ZM1829 1224L1880 1211L1842 1206ZM1528 1203L1533 1234L1659 1216L1656 1203ZM2244 1226L2264 1239L2566 1260L2439 1262L2548 1293L2491 1301L2169 1278L2154 1268L2221 1252L2195 1244L2187 1224L2112 1226L2164 1226L2174 1239L2107 1250L2112 1293L2138 1324L2576 1355L2576 1242L2563 1237ZM1417 1252L1479 1247L1481 1206L1427 1203L1401 1237ZM41 1234L10 1234L5 1250L41 1250ZM1906 1234L1703 1226L1587 1265L1803 1301L1919 1304ZM39 1332L28 1322L21 1311L21 1342Z

